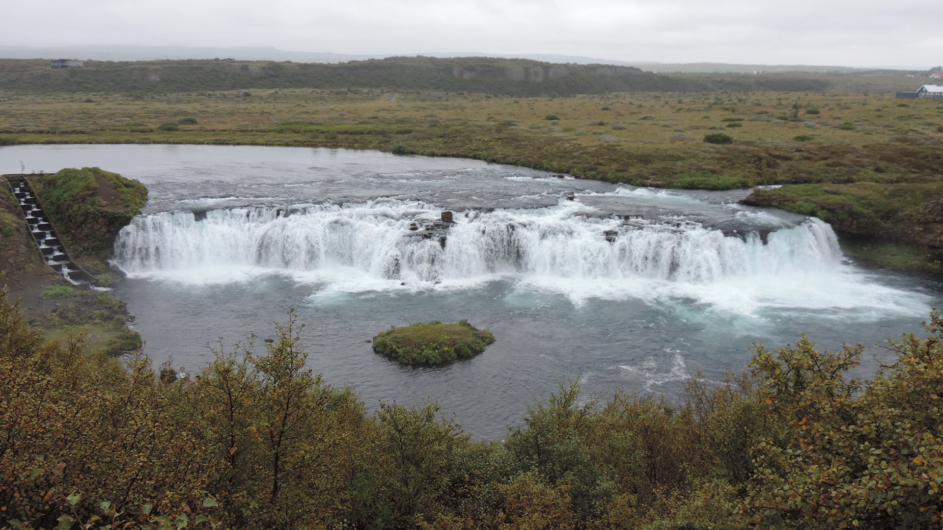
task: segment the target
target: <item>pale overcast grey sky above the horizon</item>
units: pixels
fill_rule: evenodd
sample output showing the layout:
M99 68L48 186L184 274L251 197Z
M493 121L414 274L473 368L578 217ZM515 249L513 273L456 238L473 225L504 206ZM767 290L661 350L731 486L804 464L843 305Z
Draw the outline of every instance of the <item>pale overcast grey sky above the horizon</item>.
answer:
M659 62L943 63L943 1L0 0L0 44L544 53Z

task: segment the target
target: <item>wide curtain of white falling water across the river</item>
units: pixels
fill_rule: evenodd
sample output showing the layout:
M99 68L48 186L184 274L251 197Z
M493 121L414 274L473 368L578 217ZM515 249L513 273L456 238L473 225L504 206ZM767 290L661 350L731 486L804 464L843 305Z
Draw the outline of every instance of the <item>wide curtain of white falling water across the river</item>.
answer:
M809 219L765 238L689 222L587 217L560 205L464 211L436 232L440 209L378 200L358 205L237 207L142 215L124 227L114 262L126 273L256 267L285 272L356 268L374 279L473 279L494 274L567 279L643 277L706 283L734 275L835 267L828 224ZM425 236L425 237L422 237Z

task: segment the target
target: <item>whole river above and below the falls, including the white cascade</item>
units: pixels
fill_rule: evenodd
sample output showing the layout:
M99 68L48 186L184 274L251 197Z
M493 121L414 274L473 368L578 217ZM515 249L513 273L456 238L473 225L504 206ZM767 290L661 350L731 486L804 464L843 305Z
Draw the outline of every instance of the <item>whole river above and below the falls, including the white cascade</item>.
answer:
M919 332L940 286L842 257L831 228L742 207L749 191L634 188L485 162L198 145L0 148L0 172L98 166L147 185L114 294L156 363L196 372L207 344L273 336L294 307L308 364L378 401L438 401L500 439L561 379L678 395L739 371L752 344L823 347ZM441 213L454 213L454 223ZM481 356L408 367L372 353L390 326L468 319ZM866 356L881 356L873 348ZM866 362L866 372L874 362Z

